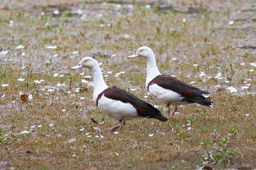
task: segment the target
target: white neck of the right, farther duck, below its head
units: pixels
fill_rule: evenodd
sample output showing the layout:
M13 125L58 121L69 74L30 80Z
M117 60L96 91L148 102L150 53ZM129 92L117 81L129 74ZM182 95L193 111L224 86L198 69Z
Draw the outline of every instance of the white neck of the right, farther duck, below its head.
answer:
M152 56L147 58L147 79L146 79L146 87L148 83L153 80L156 76L161 75L161 73L158 70L158 67L156 66L156 59L155 55L152 54Z

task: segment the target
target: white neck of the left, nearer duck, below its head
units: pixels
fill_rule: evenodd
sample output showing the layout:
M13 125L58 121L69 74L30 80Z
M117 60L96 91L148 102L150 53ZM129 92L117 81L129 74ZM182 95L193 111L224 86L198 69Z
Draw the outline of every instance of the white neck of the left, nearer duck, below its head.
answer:
M108 85L106 85L100 66L96 65L91 68L92 75L93 75L93 101L96 102L97 97L101 92L103 92L105 89L108 88Z

